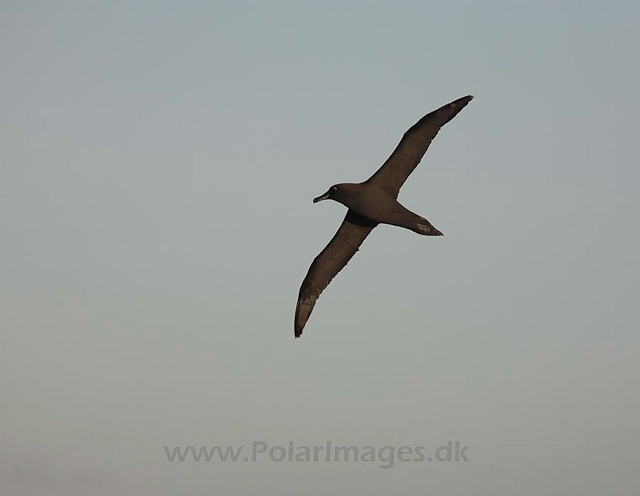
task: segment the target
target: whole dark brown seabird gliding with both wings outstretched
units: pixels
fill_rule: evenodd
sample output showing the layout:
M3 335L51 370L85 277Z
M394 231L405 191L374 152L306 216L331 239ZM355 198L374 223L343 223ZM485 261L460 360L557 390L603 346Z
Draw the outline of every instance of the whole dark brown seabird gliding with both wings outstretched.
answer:
M320 293L378 224L404 227L424 236L442 236L427 219L404 208L396 198L440 128L472 99L471 95L459 98L425 115L409 128L387 161L365 182L335 184L324 195L313 199L314 203L334 200L349 210L338 232L315 258L302 281L294 319L296 338L302 334Z

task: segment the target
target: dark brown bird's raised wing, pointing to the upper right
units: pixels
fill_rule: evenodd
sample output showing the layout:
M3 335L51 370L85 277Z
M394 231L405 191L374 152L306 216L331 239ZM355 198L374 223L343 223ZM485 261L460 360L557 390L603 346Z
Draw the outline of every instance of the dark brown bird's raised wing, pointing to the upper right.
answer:
M404 133L400 143L367 183L398 197L400 187L422 160L440 128L453 119L473 99L471 95L425 115Z

